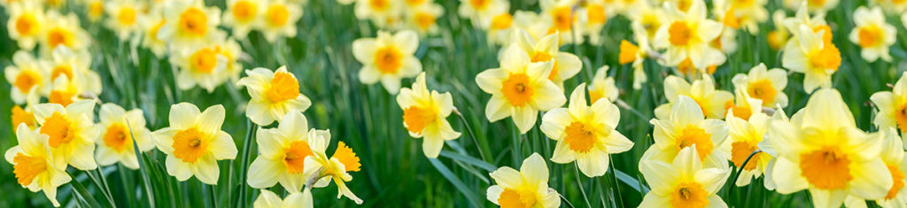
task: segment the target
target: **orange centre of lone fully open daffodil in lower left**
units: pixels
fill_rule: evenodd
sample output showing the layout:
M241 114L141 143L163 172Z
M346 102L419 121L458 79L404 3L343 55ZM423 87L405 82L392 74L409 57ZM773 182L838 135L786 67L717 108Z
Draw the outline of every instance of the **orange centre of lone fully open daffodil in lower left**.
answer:
M177 132L173 135L173 156L186 163L195 163L208 151L207 137L195 127Z

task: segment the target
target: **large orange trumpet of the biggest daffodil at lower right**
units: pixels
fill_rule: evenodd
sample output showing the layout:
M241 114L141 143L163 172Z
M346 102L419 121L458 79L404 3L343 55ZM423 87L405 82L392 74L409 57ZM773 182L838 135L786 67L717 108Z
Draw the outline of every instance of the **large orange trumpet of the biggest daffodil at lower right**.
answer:
M850 163L847 154L833 146L800 154L801 174L816 188L825 190L847 187L847 183L853 180L848 166Z

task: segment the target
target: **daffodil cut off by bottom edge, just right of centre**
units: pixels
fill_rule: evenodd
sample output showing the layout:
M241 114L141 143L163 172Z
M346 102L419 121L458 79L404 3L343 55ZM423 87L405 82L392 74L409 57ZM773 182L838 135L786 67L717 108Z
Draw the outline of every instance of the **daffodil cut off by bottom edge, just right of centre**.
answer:
M560 207L560 194L548 188L548 166L538 153L522 161L520 171L501 167L489 173L494 184L486 198L501 207Z

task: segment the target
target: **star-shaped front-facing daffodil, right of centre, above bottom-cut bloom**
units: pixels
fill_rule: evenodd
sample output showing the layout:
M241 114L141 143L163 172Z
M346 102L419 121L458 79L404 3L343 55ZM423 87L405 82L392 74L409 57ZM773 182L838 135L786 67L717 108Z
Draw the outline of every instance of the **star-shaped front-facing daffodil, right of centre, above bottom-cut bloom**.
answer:
M569 107L556 108L541 117L541 132L557 141L551 161L576 161L580 171L589 177L608 171L610 154L627 152L633 142L617 131L618 107L608 100L586 104L586 84L573 90Z

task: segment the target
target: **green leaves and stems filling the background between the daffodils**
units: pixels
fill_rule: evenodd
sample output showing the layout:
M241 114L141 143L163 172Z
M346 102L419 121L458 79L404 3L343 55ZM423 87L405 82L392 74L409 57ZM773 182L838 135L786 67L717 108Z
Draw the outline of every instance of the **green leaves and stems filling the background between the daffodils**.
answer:
M218 5L223 1L206 1ZM395 103L395 95L387 94L380 84L364 85L357 80L361 67L352 55L351 44L356 38L375 36L377 29L366 21L356 20L352 5L338 5L333 0L311 0L304 7L304 15L297 23L298 35L277 44L268 44L263 36L251 33L240 42L248 54L241 64L244 68L277 68L287 65L297 75L301 92L313 102L305 112L311 127L330 129L334 135L328 151L336 148L336 141L350 145L361 158L362 171L353 173L351 189L365 200L364 206L427 206L427 207L478 207L492 206L485 200L485 189L493 184L488 173L500 166L518 167L529 154L539 153L550 158L555 144L541 134L538 127L528 134L517 135L510 119L489 123L483 114L490 95L484 94L474 83L474 76L485 69L497 67L498 47L486 43L483 31L456 14L453 0L439 0L445 15L438 19L438 35L420 40L416 56L428 74L430 89L453 94L453 104L463 113L463 120L452 114L448 120L453 128L463 133L457 140L448 142L438 159L427 159L421 150L421 141L410 138L402 125L402 110ZM907 69L907 31L900 20L889 16L888 22L898 28L898 43L892 46L892 63L878 61L867 63L860 57L860 48L846 36L853 29L853 11L866 1L841 1L826 17L834 31L834 44L840 48L844 62L833 76L834 87L841 91L850 106L857 125L866 131L875 131L872 118L873 106L868 104L874 92L889 90ZM769 11L780 7L780 0L771 0ZM534 0L512 1L511 11L539 11ZM204 188L198 180L177 182L164 170L161 152L154 150L143 154L140 170L123 169L122 165L102 167L100 171L83 172L73 168L73 183L60 187L58 198L64 206L110 206L103 194L106 183L116 206L146 207L153 203L160 207L211 206L210 196L219 207L250 206L258 191L244 185L241 174L255 158L257 147L249 138L250 126L245 118L244 103L249 97L245 90L233 84L221 85L212 94L201 89L180 91L175 88L175 68L164 58L156 58L150 51L135 48L131 43L117 42L111 31L100 24L87 22L84 8L68 5L63 11L80 14L82 26L93 35L91 47L92 69L101 74L104 91L100 98L105 103L120 104L127 109L141 108L153 131L168 125L167 114L171 104L190 102L205 108L224 104L228 109L223 129L233 136L240 150L236 160L221 161L219 183L214 193ZM65 13L65 12L64 12ZM788 11L787 15L794 15ZM8 19L7 11L0 10L0 19ZM732 90L734 74L746 73L752 66L765 63L769 68L781 67L780 54L766 43L766 33L774 29L770 21L760 25L760 33L737 33L739 49L729 54L727 64L714 74L718 87ZM583 70L565 84L566 89L590 81L590 77L603 64L611 66L610 75L616 77L621 89L620 133L636 144L629 152L613 154L613 169L602 177L588 178L576 170L573 163L548 162L551 172L549 185L577 207L633 207L642 200L638 190L643 181L638 163L643 152L652 144L649 119L655 106L666 103L661 80L671 74L669 68L647 61L649 83L640 90L633 90L629 65L619 65L619 41L632 39L629 20L622 16L611 18L602 31L603 45L566 45L561 51L578 54L584 63ZM0 66L11 64L16 46L8 38L6 27L0 27ZM135 48L133 50L133 48ZM785 93L790 104L785 112L793 114L805 106L809 97L803 91L803 74L791 74ZM405 79L408 86L413 79ZM10 124L13 103L9 97L10 85L0 84L0 150L15 145L15 134ZM540 119L541 122L541 119ZM475 133L470 137L464 125ZM538 123L536 124L538 125ZM271 126L273 127L273 126ZM254 137L252 137L254 138ZM476 141L476 142L473 142ZM249 144L250 146L247 146ZM481 149L484 156L477 150ZM249 154L248 160L243 155ZM614 175L620 172L625 175ZM102 173L102 174L99 174ZM102 175L102 177L97 177ZM91 177L90 177L91 176ZM147 183L146 177L147 176ZM97 179L97 182L93 181ZM644 183L644 182L643 182ZM761 184L756 180L754 184ZM83 188L81 188L84 186ZM75 188L73 188L75 187ZM740 187L729 192L726 185L720 193L730 205L736 207L810 206L804 192L781 195L766 191L761 185ZM49 206L43 193L31 193L15 182L12 165L0 163L0 206L28 207ZM276 193L284 193L279 187ZM82 193L82 194L80 194ZM150 200L150 195L153 201ZM347 199L336 199L336 186L313 190L317 207L354 206ZM566 204L564 204L566 205ZM870 204L874 205L874 204Z

